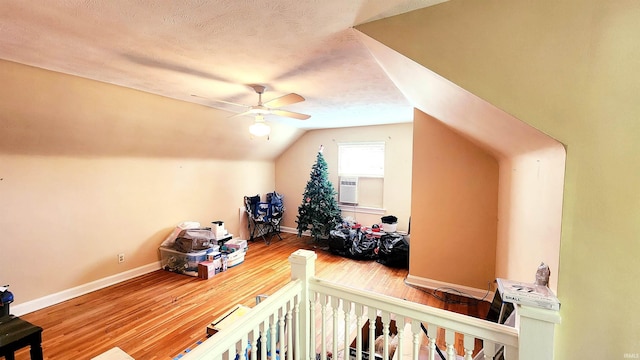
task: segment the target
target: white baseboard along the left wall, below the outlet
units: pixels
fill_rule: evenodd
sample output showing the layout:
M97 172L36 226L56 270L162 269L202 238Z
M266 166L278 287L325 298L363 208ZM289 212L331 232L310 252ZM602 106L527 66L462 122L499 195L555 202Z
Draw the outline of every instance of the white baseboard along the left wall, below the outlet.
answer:
M125 280L133 279L134 277L159 270L160 267L161 266L159 261L154 262L148 265L137 267L135 269L121 272L119 274L107 276L105 278L98 279L87 284L76 286L71 289L62 290L55 294L43 296L41 298L20 303L17 305L12 305L11 313L16 316L28 314L36 310L44 309L47 306L55 305L63 301L67 301L69 299L73 299L75 297L88 294L92 291L100 290L107 286L111 286L111 285L123 282Z

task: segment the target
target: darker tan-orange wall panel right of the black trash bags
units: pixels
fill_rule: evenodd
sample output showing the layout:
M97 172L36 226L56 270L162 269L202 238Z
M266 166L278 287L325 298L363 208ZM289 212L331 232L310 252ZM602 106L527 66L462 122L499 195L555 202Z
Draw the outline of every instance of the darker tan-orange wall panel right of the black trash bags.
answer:
M486 289L495 278L498 162L415 111L412 277Z

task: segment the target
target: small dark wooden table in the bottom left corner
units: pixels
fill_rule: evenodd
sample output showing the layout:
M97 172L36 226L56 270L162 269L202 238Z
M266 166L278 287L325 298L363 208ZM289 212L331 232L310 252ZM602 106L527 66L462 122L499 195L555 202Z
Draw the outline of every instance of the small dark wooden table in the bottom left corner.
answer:
M42 328L9 315L0 318L0 356L14 360L14 352L31 346L31 359L42 360Z

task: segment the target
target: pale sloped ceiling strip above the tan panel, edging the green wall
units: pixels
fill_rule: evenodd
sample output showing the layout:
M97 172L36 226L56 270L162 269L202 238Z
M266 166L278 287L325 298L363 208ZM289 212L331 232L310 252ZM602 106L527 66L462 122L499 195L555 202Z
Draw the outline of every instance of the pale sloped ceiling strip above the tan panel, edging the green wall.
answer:
M407 99L497 159L561 144L451 81L359 33L363 43Z

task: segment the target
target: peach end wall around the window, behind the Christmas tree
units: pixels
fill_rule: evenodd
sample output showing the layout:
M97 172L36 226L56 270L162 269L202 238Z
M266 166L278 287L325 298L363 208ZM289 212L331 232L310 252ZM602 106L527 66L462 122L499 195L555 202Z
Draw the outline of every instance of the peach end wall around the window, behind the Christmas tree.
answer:
M338 143L357 141L385 142L384 208L386 214L398 217L398 230L406 231L411 211L411 147L412 124L366 126L312 130L293 143L276 160L276 188L285 195L283 226L296 228L298 206L302 202L311 166L320 145L329 167L329 179L338 190ZM345 212L363 225L380 222L382 215Z

